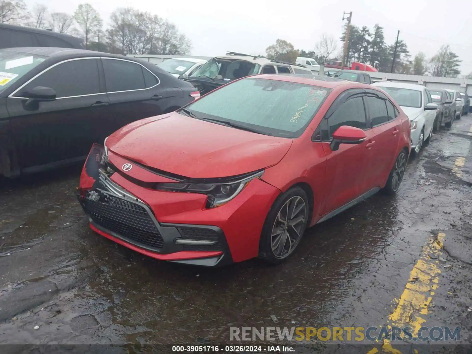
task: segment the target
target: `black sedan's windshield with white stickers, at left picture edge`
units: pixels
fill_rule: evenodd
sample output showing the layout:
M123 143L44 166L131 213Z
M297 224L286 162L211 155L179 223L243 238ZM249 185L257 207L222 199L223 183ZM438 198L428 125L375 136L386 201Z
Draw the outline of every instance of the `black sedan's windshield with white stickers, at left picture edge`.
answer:
M44 60L46 57L41 55L0 50L0 91L6 89Z

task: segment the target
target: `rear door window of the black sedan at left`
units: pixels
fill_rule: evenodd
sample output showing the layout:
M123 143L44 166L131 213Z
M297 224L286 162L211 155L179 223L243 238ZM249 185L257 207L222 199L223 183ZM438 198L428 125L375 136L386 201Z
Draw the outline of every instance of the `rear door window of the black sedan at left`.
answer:
M142 90L146 88L143 67L126 60L102 58L107 92Z

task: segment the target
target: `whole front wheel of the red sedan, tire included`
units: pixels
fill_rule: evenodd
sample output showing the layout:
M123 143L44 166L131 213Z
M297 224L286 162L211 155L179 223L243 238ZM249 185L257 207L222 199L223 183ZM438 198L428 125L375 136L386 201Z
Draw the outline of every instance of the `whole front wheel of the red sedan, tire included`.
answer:
M300 243L309 219L308 197L300 187L280 194L267 214L259 242L259 258L279 264Z

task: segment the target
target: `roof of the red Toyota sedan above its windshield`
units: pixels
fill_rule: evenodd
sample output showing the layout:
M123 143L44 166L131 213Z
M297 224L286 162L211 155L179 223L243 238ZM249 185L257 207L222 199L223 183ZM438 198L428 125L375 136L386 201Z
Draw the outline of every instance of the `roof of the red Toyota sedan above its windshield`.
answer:
M320 87L325 87L325 88L330 88L330 89L334 89L338 86L349 86L352 88L370 86L367 84L361 84L361 83L357 83L353 81L338 79L336 77L306 75L306 74L261 74L261 75L253 75L249 77L278 80L278 81L288 81L288 82L294 82L297 84L307 84L307 85L320 86Z

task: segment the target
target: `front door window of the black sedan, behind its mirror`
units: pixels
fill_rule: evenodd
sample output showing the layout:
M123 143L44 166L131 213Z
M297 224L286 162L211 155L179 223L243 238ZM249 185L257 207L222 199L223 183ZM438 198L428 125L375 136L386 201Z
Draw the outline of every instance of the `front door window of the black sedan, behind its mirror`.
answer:
M45 86L53 88L57 98L100 93L98 77L98 59L71 60L51 67L27 84L21 92Z

